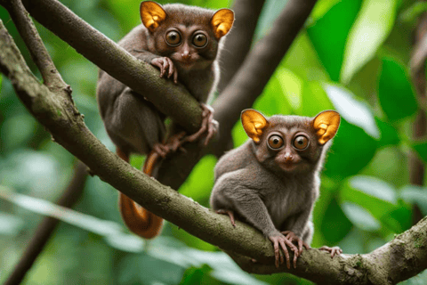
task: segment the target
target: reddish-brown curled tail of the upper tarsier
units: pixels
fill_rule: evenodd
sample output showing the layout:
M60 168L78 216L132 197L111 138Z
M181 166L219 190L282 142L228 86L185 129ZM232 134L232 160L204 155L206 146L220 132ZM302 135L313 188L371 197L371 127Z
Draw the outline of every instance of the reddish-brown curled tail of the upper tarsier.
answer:
M118 148L117 155L121 159L129 162L129 156ZM142 171L146 175L151 175L159 158L160 157L156 152L150 152L145 160ZM118 206L123 220L129 230L138 234L142 238L152 239L162 232L163 219L149 212L145 208L142 208L140 205L135 203L133 199L130 199L123 193L120 193Z

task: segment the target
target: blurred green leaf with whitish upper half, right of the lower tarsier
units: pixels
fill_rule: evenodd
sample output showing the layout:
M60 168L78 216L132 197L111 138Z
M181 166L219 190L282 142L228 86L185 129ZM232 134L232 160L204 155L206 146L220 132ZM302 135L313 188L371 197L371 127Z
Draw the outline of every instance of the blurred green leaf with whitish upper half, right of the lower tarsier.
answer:
M399 208L396 191L389 183L365 175L353 176L344 183L340 199L366 208L378 220Z

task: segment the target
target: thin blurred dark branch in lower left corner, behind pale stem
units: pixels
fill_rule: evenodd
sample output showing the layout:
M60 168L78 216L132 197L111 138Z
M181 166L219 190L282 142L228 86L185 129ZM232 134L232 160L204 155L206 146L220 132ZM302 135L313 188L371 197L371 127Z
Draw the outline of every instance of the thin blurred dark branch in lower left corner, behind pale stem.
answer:
M77 161L74 175L68 184L67 189L62 193L62 196L57 201L57 205L67 208L72 208L77 200L80 199L87 178L87 167L80 161ZM20 261L15 266L12 274L9 276L4 285L20 284L24 279L25 274L36 261L37 256L43 251L47 241L51 238L56 226L60 221L45 217L36 229L36 233L28 243L24 254L20 257Z

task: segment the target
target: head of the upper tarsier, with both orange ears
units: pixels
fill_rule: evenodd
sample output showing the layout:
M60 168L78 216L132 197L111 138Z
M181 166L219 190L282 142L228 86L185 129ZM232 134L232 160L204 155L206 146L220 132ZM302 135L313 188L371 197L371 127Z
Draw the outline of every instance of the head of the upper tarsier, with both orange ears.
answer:
M141 20L152 34L156 51L181 69L204 69L218 53L219 40L229 31L234 12L217 12L183 4L141 3Z

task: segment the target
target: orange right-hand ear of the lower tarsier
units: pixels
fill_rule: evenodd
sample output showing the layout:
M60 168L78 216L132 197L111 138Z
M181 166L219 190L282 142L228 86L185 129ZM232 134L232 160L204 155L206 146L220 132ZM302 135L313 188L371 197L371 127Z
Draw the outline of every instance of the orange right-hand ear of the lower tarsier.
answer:
M313 126L318 134L318 143L325 144L332 139L340 126L340 114L334 110L326 110L313 119Z

